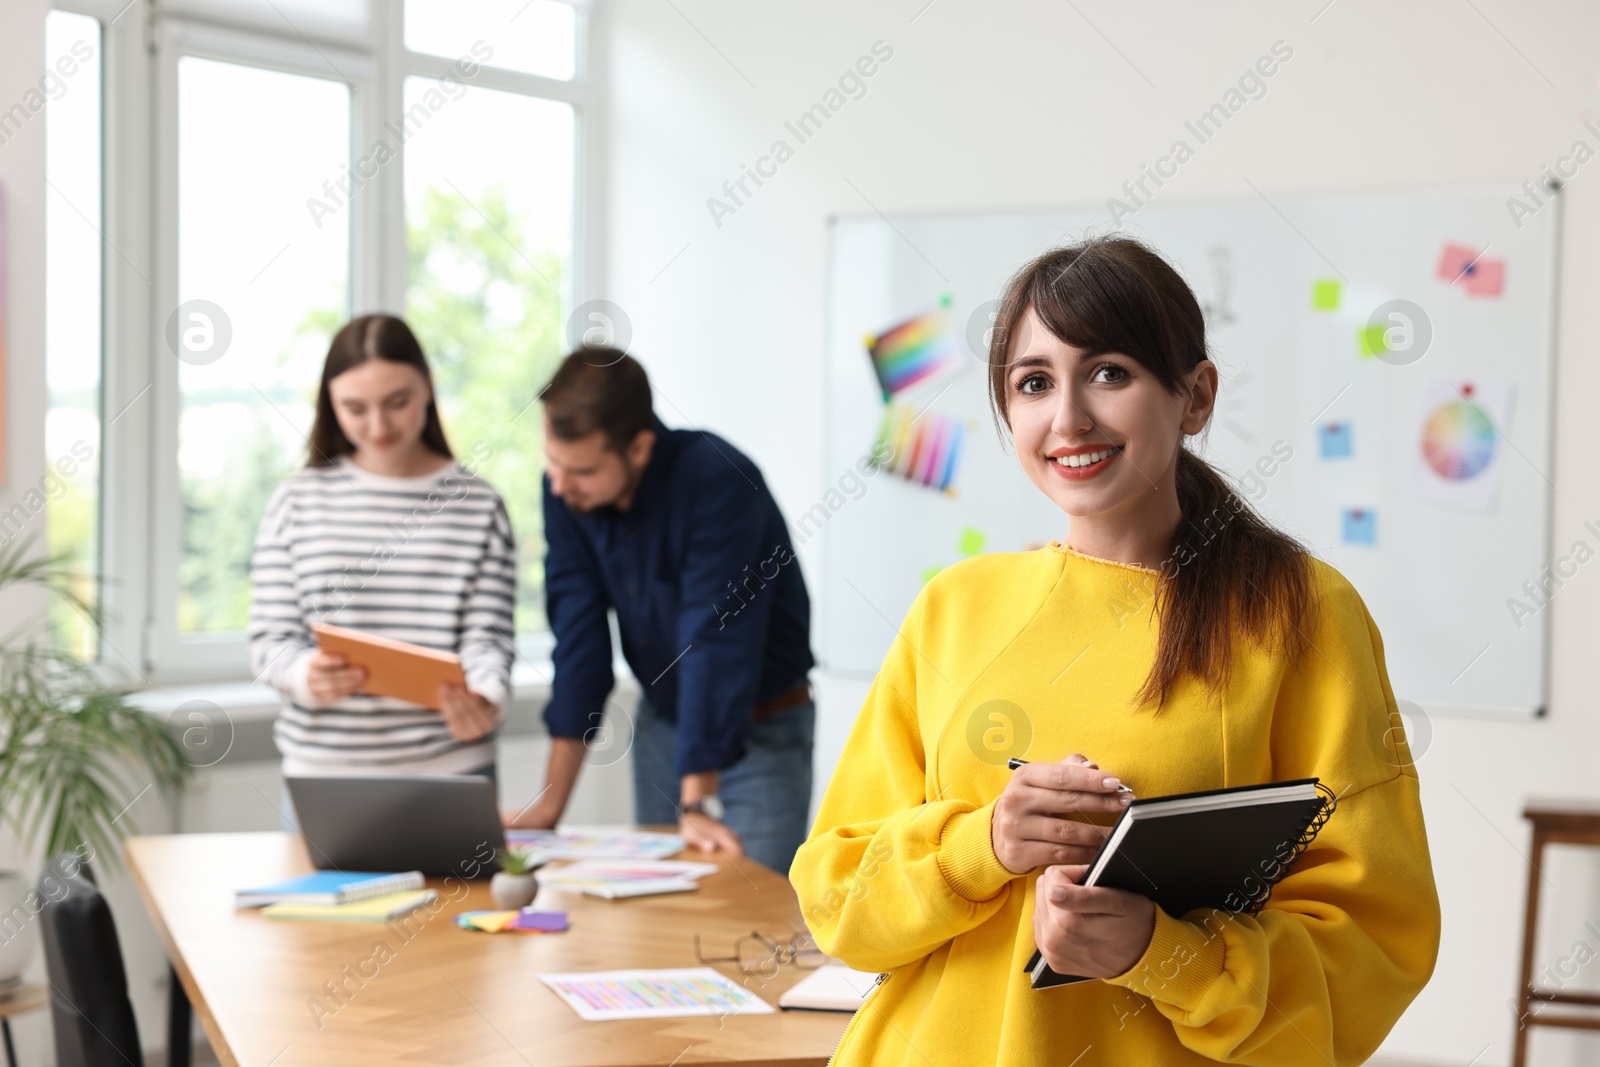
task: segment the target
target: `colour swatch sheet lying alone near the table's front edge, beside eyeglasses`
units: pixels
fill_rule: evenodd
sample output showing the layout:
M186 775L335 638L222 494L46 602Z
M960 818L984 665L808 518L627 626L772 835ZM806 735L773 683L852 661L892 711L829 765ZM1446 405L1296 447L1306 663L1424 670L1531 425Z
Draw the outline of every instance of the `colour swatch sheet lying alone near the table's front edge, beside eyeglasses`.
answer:
M541 974L539 981L589 1022L774 1011L765 1000L709 966Z

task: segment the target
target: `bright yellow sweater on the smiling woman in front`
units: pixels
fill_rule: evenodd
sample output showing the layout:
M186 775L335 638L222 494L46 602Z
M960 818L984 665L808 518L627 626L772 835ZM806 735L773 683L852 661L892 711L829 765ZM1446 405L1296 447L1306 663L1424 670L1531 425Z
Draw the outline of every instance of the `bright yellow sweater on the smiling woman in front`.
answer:
M1154 571L1056 542L939 573L883 661L789 872L818 944L888 979L835 1064L1360 1064L1422 989L1438 896L1382 641L1315 563L1298 664L1234 645L1226 693L1131 707ZM1254 918L1157 909L1126 973L1029 987L1038 872L995 859L1008 755L1088 755L1139 797L1318 776L1338 811Z

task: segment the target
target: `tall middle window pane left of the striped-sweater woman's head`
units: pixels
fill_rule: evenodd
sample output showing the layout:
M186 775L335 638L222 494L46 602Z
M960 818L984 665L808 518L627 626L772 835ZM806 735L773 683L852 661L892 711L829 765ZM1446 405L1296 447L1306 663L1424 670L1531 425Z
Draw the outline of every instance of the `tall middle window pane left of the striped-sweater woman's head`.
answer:
M274 486L306 459L328 341L349 317L350 86L178 61L179 635L250 621L250 553ZM320 202L315 218L306 202Z

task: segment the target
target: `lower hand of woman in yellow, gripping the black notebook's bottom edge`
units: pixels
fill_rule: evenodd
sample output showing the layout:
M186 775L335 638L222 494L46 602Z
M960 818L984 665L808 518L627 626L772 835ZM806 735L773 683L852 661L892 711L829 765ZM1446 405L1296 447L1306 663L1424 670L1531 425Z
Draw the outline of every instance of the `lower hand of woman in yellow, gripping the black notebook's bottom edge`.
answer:
M1045 867L1034 899L1034 944L1051 971L1123 974L1150 947L1155 902L1123 889L1082 886L1088 864Z

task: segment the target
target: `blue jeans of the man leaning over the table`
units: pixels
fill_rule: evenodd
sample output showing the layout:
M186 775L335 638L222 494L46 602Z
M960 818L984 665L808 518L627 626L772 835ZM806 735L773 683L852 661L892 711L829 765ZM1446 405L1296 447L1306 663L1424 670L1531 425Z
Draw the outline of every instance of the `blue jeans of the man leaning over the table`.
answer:
M789 873L811 814L811 736L816 704L806 701L752 721L744 758L722 773L717 795L723 822L744 841L744 854ZM656 715L643 696L634 721L634 819L678 821L678 728Z

